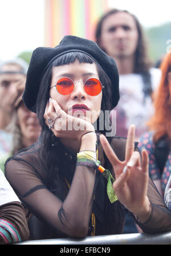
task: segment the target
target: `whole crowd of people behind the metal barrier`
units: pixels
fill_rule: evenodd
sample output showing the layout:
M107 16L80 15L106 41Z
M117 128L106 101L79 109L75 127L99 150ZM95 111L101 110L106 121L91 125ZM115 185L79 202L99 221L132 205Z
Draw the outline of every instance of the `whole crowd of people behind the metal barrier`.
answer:
M0 243L171 231L171 53L125 10L95 38L0 63Z

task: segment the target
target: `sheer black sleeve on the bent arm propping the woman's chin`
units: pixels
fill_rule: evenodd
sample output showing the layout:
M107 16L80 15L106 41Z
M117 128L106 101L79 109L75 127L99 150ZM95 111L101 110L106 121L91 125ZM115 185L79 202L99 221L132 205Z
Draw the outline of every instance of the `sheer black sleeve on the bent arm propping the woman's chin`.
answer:
M76 167L64 202L47 189L36 175L39 171L17 158L8 161L5 167L7 180L37 218L72 237L85 237L92 210L95 170L86 166Z

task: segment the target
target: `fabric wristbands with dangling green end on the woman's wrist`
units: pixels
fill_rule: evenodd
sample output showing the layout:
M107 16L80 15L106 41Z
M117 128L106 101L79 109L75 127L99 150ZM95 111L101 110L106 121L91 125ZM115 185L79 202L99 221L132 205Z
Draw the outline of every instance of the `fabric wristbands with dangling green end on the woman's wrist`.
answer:
M100 173L107 179L107 194L109 201L111 203L115 202L117 200L117 196L115 194L115 191L113 190L113 182L115 182L115 179L113 178L111 172L107 169L105 169L103 166L100 165L100 161L96 160L95 151L88 151L83 150L77 154L77 166L78 165L84 165L88 167L93 167L96 170L100 171Z

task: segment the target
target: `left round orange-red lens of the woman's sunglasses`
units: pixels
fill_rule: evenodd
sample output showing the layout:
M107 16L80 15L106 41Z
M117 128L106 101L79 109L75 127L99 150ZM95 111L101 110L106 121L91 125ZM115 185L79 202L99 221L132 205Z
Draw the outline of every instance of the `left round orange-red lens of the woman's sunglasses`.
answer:
M56 90L62 95L68 95L74 90L74 83L70 78L60 78L56 83Z

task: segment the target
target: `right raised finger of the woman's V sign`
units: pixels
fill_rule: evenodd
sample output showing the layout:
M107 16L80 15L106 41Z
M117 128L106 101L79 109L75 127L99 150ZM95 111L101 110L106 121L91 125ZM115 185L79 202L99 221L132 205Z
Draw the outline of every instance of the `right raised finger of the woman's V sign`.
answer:
M127 142L125 146L125 161L128 162L129 158L135 149L135 125L129 126Z

